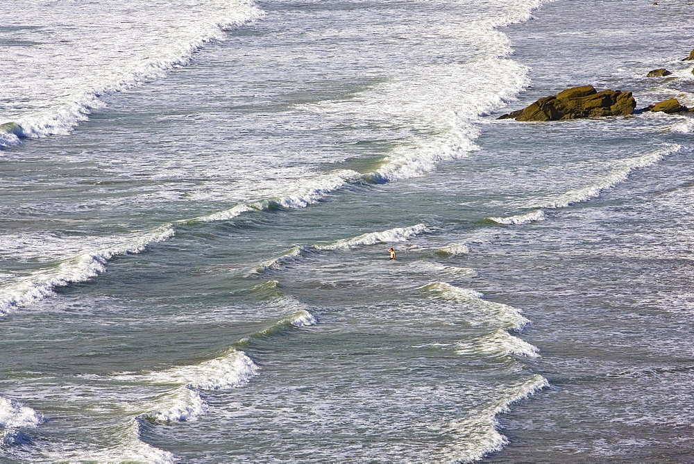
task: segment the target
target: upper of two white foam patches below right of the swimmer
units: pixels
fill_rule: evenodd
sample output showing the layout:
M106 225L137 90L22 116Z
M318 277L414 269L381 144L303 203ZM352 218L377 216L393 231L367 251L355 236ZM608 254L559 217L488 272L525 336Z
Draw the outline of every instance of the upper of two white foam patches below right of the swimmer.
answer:
M433 282L425 285L427 290L437 292L442 298L460 301L479 311L477 320L471 320L471 324L480 324L481 321L492 322L494 326L502 329L520 330L528 324L528 321L519 310L507 304L495 303L482 299L484 295L475 290L456 287L446 282Z

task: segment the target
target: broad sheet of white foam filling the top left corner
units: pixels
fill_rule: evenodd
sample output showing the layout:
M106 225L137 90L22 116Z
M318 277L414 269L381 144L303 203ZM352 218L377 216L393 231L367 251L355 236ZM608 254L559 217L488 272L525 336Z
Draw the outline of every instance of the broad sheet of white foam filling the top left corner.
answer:
M7 115L21 126L21 133L4 131L0 147L17 144L17 135L69 133L92 109L103 106L101 94L139 85L185 65L206 42L224 40L223 28L263 15L251 0L189 1L178 8L168 4L164 8L153 0L124 0L108 8L85 4L79 10L63 8L58 2L51 6L50 17L38 3L6 5L3 25L41 24L50 28L52 40L40 33L25 33L25 40L46 40L37 47L41 54L15 53L3 63L0 99L23 101L24 106ZM64 21L67 16L69 27ZM17 34L22 31L20 27ZM60 78L53 69L62 69Z

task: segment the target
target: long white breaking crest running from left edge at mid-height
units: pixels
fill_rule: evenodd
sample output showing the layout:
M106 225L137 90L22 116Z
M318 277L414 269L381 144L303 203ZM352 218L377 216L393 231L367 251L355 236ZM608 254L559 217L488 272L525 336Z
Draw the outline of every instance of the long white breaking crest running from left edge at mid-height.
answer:
M106 270L108 260L117 255L135 254L144 251L147 245L162 242L174 236L171 224L136 238L124 237L110 243L110 248L86 251L63 260L57 267L40 270L14 283L0 288L0 315L10 310L28 306L55 295L54 288L74 282L84 282Z

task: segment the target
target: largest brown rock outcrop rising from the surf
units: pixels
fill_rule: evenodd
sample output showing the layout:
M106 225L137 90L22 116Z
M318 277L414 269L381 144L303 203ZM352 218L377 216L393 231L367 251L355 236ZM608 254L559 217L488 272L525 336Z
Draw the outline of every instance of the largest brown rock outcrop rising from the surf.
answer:
M624 116L634 113L636 100L632 92L602 90L593 85L566 89L559 94L543 97L522 110L498 119L516 121L559 121L584 117Z

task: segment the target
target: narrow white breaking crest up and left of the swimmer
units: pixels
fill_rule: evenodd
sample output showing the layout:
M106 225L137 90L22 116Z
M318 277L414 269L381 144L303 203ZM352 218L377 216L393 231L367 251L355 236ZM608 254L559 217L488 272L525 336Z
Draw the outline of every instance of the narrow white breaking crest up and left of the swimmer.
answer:
M278 208L305 208L311 204L319 203L331 192L339 190L350 183L355 183L361 178L362 176L356 171L340 169L339 171L332 172L325 176L316 176L310 179L296 181L293 186L289 186L287 189L289 192L286 194L280 194L277 197L269 199L237 204L228 210L196 217L185 222L226 221L253 210L268 211Z

